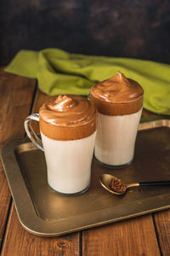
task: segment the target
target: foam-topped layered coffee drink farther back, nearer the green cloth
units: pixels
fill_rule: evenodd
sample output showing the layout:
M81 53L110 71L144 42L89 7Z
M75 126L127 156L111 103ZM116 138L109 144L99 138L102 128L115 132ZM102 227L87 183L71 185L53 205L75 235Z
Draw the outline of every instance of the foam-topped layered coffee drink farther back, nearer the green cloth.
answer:
M122 73L92 87L90 98L99 111L94 154L102 164L132 162L143 96L142 87Z

